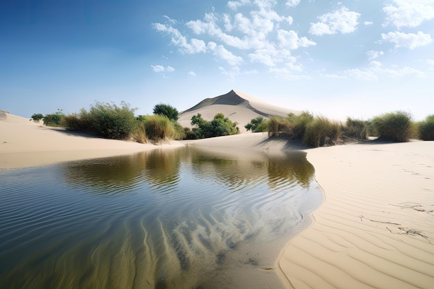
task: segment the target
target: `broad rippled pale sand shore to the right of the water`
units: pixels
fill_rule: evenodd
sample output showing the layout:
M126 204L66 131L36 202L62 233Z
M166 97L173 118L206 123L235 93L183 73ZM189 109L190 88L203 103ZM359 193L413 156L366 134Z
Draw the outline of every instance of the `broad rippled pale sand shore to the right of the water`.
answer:
M279 261L294 288L434 288L434 142L307 151L325 201Z

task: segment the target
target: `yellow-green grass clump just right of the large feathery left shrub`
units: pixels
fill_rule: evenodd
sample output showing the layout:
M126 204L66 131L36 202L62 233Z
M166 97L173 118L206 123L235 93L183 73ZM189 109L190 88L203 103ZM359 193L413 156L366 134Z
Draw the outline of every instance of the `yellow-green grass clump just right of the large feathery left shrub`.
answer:
M175 136L173 123L167 116L162 114L153 114L139 116L139 121L144 124L146 137L151 141L162 141L172 139Z

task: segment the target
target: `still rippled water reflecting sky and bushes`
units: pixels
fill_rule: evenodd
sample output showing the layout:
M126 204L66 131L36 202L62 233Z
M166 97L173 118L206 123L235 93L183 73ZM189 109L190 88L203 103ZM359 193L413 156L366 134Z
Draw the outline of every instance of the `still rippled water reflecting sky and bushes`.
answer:
M199 148L0 170L0 288L283 288L322 202L304 152Z

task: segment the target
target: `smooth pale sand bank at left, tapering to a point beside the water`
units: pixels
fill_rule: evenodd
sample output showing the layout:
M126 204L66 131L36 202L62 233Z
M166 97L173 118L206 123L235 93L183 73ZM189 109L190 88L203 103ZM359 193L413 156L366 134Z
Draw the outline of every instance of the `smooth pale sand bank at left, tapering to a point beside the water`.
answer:
M0 168L111 157L159 147L161 146L101 139L89 134L48 128L14 114L0 115Z

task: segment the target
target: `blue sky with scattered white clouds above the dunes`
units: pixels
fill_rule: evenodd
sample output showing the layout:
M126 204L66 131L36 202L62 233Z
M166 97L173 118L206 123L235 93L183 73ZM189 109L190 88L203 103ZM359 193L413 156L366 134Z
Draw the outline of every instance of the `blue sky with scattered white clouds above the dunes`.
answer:
M186 110L238 89L332 119L434 114L434 1L0 3L0 109Z

